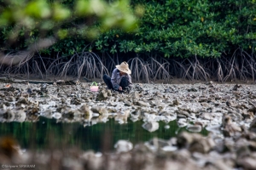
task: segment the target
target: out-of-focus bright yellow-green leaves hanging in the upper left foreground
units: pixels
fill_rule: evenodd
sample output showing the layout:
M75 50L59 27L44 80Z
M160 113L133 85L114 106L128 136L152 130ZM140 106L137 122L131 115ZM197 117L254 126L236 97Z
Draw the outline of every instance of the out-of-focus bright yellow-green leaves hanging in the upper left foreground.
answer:
M37 30L40 37L47 37L49 32L58 36L59 30L67 26L68 29L75 27L78 30L67 31L69 34L79 34L79 29L91 31L92 28L107 31L114 27L132 31L137 26L135 14L127 8L130 4L129 0L117 0L113 3L102 0L77 0L69 5L61 2L6 0L4 5L0 5L0 28L11 26L13 27L11 32L20 31L21 28L25 28L25 31ZM78 25L77 20L84 20L84 22L79 22ZM51 23L54 23L54 26Z

